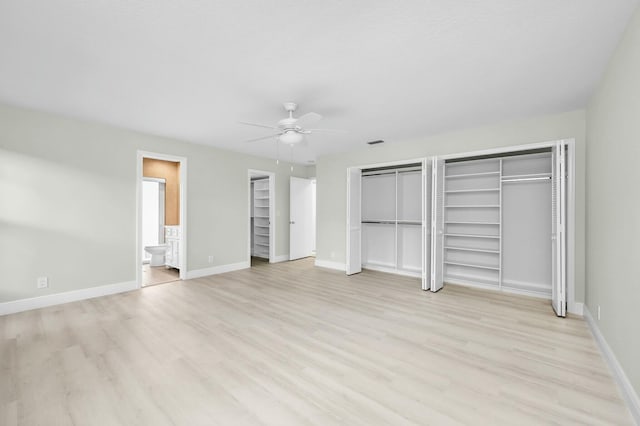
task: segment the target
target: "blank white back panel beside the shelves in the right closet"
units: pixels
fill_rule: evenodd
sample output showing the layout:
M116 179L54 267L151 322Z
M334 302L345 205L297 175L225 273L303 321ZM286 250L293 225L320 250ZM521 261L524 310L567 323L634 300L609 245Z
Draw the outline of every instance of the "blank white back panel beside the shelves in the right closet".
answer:
M507 288L551 295L551 181L505 183L503 272Z

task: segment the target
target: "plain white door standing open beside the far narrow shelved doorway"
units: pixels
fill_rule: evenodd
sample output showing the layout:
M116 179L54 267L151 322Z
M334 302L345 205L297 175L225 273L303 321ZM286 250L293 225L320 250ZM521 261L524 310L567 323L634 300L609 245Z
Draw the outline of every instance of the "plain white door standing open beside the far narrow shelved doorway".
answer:
M289 260L313 254L313 182L291 176L289 203Z

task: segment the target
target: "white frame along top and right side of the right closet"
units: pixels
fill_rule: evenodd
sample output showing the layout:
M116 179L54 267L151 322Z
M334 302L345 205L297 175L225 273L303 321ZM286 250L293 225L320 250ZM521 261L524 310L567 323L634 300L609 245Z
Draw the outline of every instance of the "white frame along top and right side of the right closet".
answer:
M567 173L567 288L566 302L567 312L582 315L584 304L575 301L575 248L576 248L576 141L575 139L558 139L546 142L504 146L479 151L459 152L455 154L439 155L438 159L449 160L454 158L475 157L481 155L504 154L516 151L526 151L538 148L553 148L558 143L567 146L566 173Z

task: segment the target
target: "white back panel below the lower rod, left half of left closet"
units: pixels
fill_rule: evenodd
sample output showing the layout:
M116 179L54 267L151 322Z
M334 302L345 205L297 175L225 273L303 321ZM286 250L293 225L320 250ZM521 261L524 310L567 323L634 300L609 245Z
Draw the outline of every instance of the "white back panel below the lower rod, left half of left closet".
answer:
M362 224L362 264L395 268L396 226Z

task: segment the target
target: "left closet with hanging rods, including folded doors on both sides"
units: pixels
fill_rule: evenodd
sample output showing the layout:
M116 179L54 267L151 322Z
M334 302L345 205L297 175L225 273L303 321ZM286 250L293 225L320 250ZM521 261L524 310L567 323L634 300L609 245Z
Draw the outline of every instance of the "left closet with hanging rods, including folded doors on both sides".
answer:
M348 170L348 275L362 268L407 275L426 288L429 168L420 159Z

